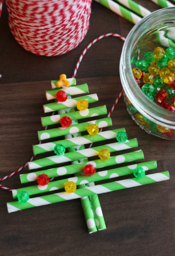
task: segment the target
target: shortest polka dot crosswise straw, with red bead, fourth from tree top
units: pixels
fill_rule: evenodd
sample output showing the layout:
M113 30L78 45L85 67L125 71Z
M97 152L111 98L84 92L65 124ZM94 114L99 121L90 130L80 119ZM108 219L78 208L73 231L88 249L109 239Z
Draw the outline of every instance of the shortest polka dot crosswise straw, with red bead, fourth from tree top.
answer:
M75 111L75 112L66 113L66 115L70 117L72 120L80 120L83 118L89 118L93 116L106 115L106 114L107 114L107 109L105 105L94 107L94 108L88 108L84 111ZM42 126L45 127L48 125L58 124L60 123L60 119L63 116L65 116L65 114L41 117Z

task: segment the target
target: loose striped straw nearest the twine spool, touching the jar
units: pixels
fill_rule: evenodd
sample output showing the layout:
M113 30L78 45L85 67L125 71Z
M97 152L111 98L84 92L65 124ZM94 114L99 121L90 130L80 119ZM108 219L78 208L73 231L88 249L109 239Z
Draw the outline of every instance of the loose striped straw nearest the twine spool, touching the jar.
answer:
M112 0L95 0L95 1L98 2L99 4L102 4L109 10L115 12L116 14L120 15L121 17L129 20L130 22L132 22L134 24L136 24L137 22L139 22L142 19L135 13L130 12L129 10L127 10L123 6L115 3Z

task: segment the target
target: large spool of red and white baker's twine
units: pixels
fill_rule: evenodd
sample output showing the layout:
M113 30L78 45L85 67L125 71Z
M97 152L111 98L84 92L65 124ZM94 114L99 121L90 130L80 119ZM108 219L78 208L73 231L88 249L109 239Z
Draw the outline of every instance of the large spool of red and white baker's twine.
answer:
M2 0L0 0L2 4ZM16 41L37 55L67 53L85 37L92 0L6 0Z

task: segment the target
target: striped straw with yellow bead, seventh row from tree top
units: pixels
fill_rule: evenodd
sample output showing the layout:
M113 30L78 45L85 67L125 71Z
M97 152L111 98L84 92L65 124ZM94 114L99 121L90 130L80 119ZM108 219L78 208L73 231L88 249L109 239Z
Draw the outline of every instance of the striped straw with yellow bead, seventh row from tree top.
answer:
M97 156L98 152L103 148L108 149L110 152L115 152L115 151L125 150L129 148L134 148L137 146L138 146L137 139L127 140L124 143L115 142L115 143L105 144L105 145L101 145L93 148L82 149L75 152L68 152L61 156L54 155L46 158L37 159L29 162L28 167L30 170L38 169L38 168L47 167L55 164L74 161L77 159Z

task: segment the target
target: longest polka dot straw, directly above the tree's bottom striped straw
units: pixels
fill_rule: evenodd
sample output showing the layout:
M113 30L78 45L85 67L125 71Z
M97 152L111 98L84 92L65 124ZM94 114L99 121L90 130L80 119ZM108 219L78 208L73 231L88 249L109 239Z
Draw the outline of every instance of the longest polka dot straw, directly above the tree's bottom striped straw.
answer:
M97 181L102 181L102 180L120 177L124 175L129 175L129 174L133 174L133 170L136 167L142 167L145 171L148 171L148 170L157 168L157 162L154 160L154 161L124 166L124 167L114 168L110 170L100 171L100 172L94 173L94 175L92 176L80 175L80 176L71 177L71 178L67 178L59 181L49 182L45 186L34 185L30 187L20 188L20 189L12 190L12 195L13 195L13 198L17 198L17 194L20 191L24 191L24 190L28 192L29 196L31 196L31 195L36 195L43 192L63 189L64 184L68 181L73 181L78 186L82 184L87 184L89 182L97 182Z

